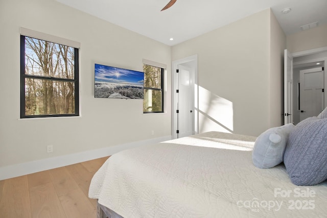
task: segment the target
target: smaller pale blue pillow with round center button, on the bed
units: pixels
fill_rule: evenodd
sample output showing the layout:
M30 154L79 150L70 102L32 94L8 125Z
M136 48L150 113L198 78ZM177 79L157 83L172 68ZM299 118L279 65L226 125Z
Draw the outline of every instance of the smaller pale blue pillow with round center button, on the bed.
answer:
M283 162L286 142L293 130L293 124L286 124L263 132L254 142L253 164L259 168L271 168Z

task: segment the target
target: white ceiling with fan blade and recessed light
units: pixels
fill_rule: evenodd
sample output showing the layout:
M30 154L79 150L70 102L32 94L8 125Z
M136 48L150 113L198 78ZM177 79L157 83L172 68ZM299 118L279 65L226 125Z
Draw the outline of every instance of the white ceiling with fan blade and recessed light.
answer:
M327 24L327 0L56 0L167 45L175 45L271 8L286 35ZM291 8L287 14L282 10ZM174 38L174 40L170 40Z

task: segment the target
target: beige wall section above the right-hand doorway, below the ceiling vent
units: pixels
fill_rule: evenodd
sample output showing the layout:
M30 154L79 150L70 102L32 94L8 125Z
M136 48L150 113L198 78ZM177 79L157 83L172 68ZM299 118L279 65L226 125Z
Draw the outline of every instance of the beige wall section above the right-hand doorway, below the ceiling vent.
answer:
M327 25L287 36L287 49L290 53L318 49L324 46L327 46Z

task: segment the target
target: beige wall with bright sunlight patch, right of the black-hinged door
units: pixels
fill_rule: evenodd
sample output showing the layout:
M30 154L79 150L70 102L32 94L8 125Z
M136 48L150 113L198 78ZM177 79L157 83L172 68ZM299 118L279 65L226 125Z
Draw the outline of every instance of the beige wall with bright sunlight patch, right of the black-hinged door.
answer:
M258 136L282 124L285 41L267 9L173 46L173 61L198 55L199 132ZM231 105L229 111L218 113L226 105ZM226 120L230 112L232 117Z

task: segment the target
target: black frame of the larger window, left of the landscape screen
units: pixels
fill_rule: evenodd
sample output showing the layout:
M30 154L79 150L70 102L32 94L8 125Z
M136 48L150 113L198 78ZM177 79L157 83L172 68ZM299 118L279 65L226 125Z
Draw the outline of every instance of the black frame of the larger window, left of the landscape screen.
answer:
M23 29L23 31L30 31L27 29ZM38 33L38 32L36 32ZM46 34L44 34L46 35ZM52 43L62 44L65 46L74 48L74 78L73 79L64 79L64 78L55 78L55 77L44 77L44 76L35 76L25 74L25 37L35 38L42 41L48 41ZM51 36L53 37L53 36ZM42 39L43 37L33 37L30 34L20 34L20 118L41 118L41 117L72 117L79 116L79 48L71 45L67 45L66 43L55 42L48 39ZM59 38L60 39L60 38ZM41 80L50 80L54 82L72 82L74 83L74 96L75 96L75 113L69 114L40 114L40 115L26 115L25 108L25 98L26 98L26 79L41 79Z

